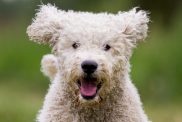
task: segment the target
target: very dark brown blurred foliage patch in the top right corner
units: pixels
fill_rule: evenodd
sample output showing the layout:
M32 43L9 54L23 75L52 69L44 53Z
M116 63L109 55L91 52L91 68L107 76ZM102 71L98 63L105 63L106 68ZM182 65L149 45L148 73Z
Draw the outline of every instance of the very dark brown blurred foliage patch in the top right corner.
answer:
M169 27L172 24L173 17L182 5L181 0L137 0L141 8L150 10L155 20L161 20L163 27Z

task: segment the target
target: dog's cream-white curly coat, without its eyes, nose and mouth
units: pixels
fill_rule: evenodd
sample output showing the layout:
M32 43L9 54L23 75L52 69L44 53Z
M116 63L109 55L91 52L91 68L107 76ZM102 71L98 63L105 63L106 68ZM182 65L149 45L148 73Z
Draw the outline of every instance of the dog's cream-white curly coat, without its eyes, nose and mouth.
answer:
M37 121L149 122L129 77L132 49L147 36L148 22L147 13L136 8L96 14L42 5L27 29L31 40L51 45L53 53L42 59L41 69L52 82ZM92 100L85 100L77 86L85 60L98 63L93 76L102 81Z

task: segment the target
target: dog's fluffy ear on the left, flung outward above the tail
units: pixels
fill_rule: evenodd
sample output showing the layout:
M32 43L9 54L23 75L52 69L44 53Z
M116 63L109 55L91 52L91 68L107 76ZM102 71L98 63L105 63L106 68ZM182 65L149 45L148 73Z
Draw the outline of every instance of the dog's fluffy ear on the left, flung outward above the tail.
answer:
M54 44L61 30L58 14L55 6L41 5L32 24L27 28L30 40L39 44Z

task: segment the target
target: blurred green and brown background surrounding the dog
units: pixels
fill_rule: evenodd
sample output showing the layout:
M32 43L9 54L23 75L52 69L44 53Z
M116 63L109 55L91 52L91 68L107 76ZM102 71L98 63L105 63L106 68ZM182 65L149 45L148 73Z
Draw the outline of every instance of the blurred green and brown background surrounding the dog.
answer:
M139 6L149 11L149 37L134 51L132 79L153 122L182 122L181 0L42 0L48 2L65 10L117 13ZM47 92L40 60L50 49L26 35L40 4L0 1L0 122L35 121Z

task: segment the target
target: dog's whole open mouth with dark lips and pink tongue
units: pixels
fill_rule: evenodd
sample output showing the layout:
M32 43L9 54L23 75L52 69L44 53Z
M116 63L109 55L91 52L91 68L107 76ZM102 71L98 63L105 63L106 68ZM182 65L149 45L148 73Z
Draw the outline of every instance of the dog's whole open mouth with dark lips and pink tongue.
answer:
M95 98L99 89L101 88L101 82L98 83L96 78L86 77L78 80L78 86L81 96L86 100Z

